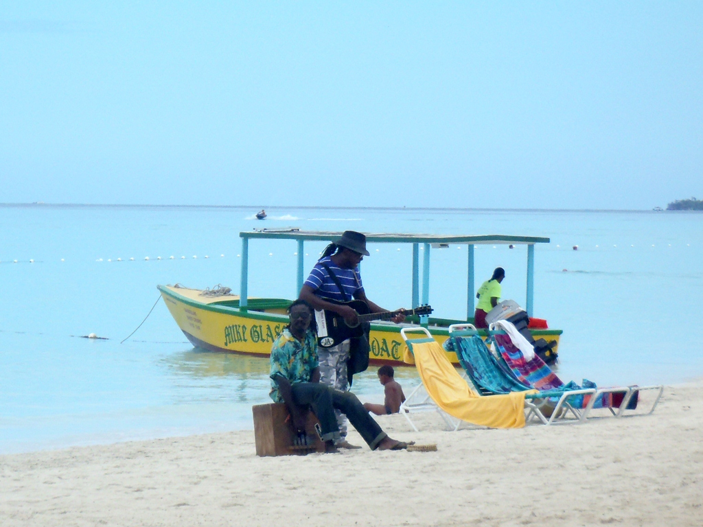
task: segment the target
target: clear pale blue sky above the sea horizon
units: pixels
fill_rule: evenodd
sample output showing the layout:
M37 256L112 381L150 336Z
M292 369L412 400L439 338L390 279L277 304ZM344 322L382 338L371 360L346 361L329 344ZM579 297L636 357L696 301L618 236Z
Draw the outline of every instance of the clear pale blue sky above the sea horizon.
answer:
M703 197L703 3L0 0L0 202Z

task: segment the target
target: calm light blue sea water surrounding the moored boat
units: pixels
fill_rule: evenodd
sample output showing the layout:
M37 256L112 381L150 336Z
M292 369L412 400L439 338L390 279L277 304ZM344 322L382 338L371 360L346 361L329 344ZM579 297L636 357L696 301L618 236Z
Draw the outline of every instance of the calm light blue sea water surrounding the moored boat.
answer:
M703 214L282 208L257 221L255 212L0 207L0 453L251 428L251 405L269 401L268 360L193 349L156 285L238 293L239 233L264 226L545 236L550 244L535 251L534 315L564 331L562 379L641 385L703 372ZM307 269L323 247L306 244ZM368 297L411 306L411 246L368 249ZM250 295L294 298L296 251L293 241L252 240ZM430 256L434 315L465 317L466 247ZM524 305L524 246L479 245L475 262L476 289L501 266L503 298ZM82 338L91 332L105 340ZM408 392L415 370L396 370ZM354 391L382 401L375 368Z

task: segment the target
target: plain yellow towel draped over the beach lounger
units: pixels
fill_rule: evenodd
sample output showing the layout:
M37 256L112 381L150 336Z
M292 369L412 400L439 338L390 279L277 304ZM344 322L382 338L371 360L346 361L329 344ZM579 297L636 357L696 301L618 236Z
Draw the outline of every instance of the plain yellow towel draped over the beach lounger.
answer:
M427 393L439 408L453 417L484 427L524 427L524 391L481 397L470 389L436 341L412 346L413 354L406 352L404 361L418 367Z

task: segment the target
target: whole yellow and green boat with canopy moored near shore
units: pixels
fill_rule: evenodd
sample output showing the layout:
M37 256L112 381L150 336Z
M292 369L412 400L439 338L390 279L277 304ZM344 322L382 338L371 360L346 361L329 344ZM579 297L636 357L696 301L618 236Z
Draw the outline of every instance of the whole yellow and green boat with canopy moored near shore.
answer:
M203 291L180 285L159 285L158 289L171 312L176 324L186 334L189 341L198 348L210 351L244 353L250 356L268 357L271 344L288 324L285 309L290 304L288 299L257 299L247 297L248 245L250 239L269 238L297 240L297 290L302 288L305 277L303 268L304 242L306 240L331 241L342 233L302 232L290 230L255 230L240 233L242 238L242 275L240 295L220 291ZM429 304L430 248L434 245L444 247L450 244L468 246L468 284L467 284L467 318L466 320L448 320L422 317L409 320L410 323L396 325L393 323L371 323L370 363L404 365L403 351L405 344L400 336L402 327L419 323L432 333L442 344L449 338L448 327L451 324L472 322L474 312L474 245L498 243L527 245L527 313L531 315L534 283L534 244L548 243L549 238L516 237L505 235L485 236L444 236L411 234L367 234L368 243L411 243L413 245L413 308L420 305L419 245L424 244L423 265L423 304ZM222 294L222 293L225 294ZM561 330L531 330L536 338L556 341L554 351L558 349ZM447 358L458 364L456 354L447 352Z

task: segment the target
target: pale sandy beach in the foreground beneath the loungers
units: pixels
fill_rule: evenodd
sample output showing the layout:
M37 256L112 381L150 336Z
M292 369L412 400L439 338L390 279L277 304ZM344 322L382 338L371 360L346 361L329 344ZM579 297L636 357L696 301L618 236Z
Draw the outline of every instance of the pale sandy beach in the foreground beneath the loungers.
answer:
M427 414L415 433L378 418L435 453L259 458L253 432L236 431L6 455L0 523L699 526L702 388L667 387L648 417L576 426L449 432Z

